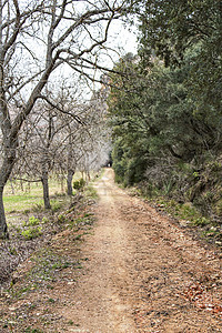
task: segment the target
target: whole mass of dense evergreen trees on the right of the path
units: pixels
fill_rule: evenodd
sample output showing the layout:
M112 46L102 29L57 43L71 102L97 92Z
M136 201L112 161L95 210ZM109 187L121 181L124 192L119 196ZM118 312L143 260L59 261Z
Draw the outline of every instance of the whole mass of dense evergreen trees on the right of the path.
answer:
M134 10L139 53L121 59L122 75L111 78L117 180L199 204L211 191L213 163L222 172L221 3L137 1Z

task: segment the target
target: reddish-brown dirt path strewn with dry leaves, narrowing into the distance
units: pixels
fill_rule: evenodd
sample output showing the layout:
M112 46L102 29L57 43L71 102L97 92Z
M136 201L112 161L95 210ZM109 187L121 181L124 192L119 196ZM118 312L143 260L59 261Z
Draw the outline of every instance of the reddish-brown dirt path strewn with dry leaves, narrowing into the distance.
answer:
M34 303L29 324L42 332L222 332L222 256L119 189L111 169L94 186L97 222L78 248L87 259L79 279L68 268L52 290L33 292L9 311ZM56 236L54 246L67 255L78 250L71 231Z

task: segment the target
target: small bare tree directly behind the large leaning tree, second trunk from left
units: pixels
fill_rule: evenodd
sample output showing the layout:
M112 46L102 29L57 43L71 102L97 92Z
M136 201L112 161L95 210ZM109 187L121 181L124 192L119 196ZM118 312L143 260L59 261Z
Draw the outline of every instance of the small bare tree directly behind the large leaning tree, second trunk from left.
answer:
M50 209L49 173L59 154L54 137L62 130L57 127L57 112L46 102L34 105L26 119L19 137L18 157L11 178L21 182L41 182L44 208Z

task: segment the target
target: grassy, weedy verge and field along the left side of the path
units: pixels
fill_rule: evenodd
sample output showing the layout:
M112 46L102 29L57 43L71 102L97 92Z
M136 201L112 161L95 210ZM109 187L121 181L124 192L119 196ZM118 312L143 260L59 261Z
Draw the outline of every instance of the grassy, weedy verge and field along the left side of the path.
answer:
M92 173L91 176L99 175ZM14 189L17 185L14 183ZM7 188L10 239L1 240L0 246L1 332L50 331L50 325L60 320L53 312L54 303L59 302L54 292L57 283L74 284L82 274L88 258L82 258L81 244L91 233L97 193L80 173L75 174L72 185L70 196L62 191L60 182L50 179L50 210L44 209L39 185L23 186L23 192L20 189L17 195L10 194ZM49 294L38 317L41 327L34 325L39 293ZM22 300L29 301L19 309L13 307L12 304ZM62 325L75 327L72 321L64 321Z

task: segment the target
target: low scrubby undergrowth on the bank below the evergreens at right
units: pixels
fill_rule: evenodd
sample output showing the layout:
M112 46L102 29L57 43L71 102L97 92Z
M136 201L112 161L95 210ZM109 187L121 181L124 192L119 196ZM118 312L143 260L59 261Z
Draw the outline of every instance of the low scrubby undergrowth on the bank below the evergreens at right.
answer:
M175 170L169 179L153 178L132 192L142 195L160 213L222 250L222 164L211 161L199 172ZM158 179L158 181L157 181Z

